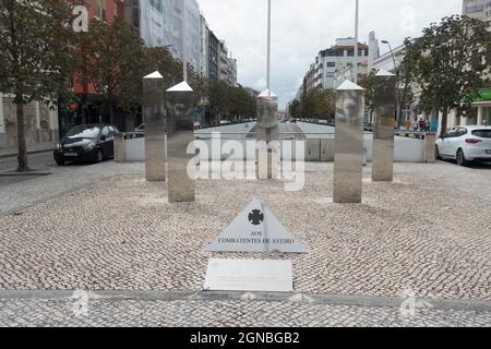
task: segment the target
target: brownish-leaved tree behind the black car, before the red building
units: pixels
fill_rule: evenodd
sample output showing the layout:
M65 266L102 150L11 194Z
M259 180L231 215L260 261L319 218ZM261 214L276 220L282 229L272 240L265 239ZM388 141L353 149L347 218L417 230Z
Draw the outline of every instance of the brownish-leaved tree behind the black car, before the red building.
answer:
M81 71L103 97L110 122L115 106L139 106L145 71L145 44L140 34L124 21L113 24L92 20L88 33L81 39Z

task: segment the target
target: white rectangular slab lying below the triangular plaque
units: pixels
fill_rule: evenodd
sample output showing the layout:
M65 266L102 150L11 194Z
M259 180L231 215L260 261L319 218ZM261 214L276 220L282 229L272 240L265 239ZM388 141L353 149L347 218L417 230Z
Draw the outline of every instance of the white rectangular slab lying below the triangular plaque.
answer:
M206 291L292 292L291 261L211 260Z

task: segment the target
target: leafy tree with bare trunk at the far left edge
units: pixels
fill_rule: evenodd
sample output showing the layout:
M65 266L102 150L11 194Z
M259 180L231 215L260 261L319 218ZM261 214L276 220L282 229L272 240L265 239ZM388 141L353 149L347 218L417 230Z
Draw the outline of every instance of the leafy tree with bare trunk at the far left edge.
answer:
M24 105L68 95L74 70L71 8L64 0L0 0L0 91L13 94L17 171L28 171Z

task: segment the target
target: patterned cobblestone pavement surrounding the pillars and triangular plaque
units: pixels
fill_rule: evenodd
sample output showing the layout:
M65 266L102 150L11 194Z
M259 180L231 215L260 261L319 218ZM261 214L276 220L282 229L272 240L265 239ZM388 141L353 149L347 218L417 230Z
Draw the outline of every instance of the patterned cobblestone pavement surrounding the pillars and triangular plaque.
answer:
M106 181L0 218L0 289L200 291L209 257L251 257L202 249L255 196L309 248L304 255L252 255L292 260L297 292L491 301L491 209L482 190L490 188L489 172L405 164L396 166L394 183L372 183L369 171L362 205L333 204L332 164L309 164L301 192L285 192L280 182L199 181L196 203L170 205L164 183L147 183L142 174L111 178L118 172L111 163L91 167L94 181ZM445 172L458 178L442 179ZM463 190L465 181L476 186ZM225 318L227 325L404 325L397 306L139 299L94 304L96 324L121 324L130 314L129 325L219 325ZM67 306L49 297L2 300L0 324L5 316L7 325L15 324L12 312L24 324L44 324L43 316L63 323ZM45 315L29 322L33 308ZM132 320L131 311L141 309L148 316ZM491 325L489 310L422 313L412 325Z

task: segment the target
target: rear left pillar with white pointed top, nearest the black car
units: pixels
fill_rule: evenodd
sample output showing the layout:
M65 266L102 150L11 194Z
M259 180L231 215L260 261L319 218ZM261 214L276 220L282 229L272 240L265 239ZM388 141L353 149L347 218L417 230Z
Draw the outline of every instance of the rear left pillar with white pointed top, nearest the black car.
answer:
M145 177L147 181L166 180L165 86L159 72L143 79L143 122L145 123Z

